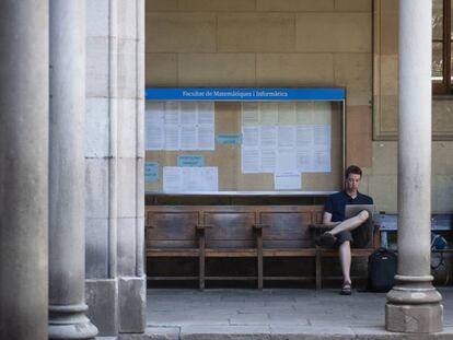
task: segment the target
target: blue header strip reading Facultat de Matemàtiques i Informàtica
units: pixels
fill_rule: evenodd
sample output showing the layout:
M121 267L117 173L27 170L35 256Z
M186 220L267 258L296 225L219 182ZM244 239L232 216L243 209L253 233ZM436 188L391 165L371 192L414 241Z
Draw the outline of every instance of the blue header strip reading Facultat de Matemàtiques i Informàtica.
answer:
M342 87L148 87L148 101L345 101Z

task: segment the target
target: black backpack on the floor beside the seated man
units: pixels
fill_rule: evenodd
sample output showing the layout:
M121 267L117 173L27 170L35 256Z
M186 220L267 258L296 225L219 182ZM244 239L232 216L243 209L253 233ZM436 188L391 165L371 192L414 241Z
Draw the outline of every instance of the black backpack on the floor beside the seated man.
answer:
M368 258L368 290L388 292L396 275L396 254L386 248L379 248Z

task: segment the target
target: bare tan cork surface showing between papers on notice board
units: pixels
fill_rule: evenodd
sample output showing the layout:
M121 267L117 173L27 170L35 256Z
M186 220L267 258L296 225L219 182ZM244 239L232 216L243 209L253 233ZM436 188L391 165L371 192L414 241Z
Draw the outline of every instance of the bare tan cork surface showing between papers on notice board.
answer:
M216 102L216 136L241 133L241 102ZM339 190L342 183L342 113L341 103L332 102L332 145L329 173L302 173L298 191ZM147 151L146 161L159 163L156 181L146 183L147 191L162 191L163 166L176 166L177 155L202 155L205 166L219 169L219 191L276 191L274 174L242 174L241 144L217 144L211 151Z

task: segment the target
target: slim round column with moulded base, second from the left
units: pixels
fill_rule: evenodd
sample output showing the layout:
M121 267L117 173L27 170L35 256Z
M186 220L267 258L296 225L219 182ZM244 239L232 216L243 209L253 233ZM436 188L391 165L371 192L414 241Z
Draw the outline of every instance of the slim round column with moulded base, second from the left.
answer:
M84 298L85 3L50 0L49 339L93 339Z

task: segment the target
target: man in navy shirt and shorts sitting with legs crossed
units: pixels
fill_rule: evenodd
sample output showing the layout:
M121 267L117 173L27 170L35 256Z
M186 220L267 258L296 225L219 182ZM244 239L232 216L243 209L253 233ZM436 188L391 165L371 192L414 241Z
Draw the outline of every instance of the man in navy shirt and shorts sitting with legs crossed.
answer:
M362 171L356 165L351 165L345 173L345 190L327 197L324 204L323 224L334 226L325 232L316 243L323 246L337 246L339 248L339 259L342 271L341 295L350 295L351 291L351 231L364 224L370 218L367 210L360 211L355 216L345 220L345 207L347 204L373 204L373 199L359 192L359 185L362 178Z

